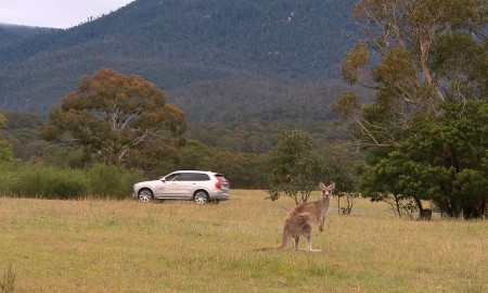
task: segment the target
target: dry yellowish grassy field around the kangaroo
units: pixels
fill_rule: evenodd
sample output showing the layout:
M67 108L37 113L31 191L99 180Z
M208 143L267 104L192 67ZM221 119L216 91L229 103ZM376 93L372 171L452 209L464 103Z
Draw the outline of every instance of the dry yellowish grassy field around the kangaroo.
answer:
M264 195L233 190L207 206L0 198L0 281L11 267L15 292L488 292L488 221L397 219L358 200L373 213L333 208L312 235L322 252L255 252L280 244L281 206L293 206Z

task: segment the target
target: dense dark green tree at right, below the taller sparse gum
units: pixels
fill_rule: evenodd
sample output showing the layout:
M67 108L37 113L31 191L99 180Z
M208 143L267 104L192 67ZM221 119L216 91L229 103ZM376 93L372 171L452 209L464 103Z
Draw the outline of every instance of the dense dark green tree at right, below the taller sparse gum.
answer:
M488 103L447 103L433 124L380 158L363 177L373 200L429 200L450 217L483 218L488 204Z

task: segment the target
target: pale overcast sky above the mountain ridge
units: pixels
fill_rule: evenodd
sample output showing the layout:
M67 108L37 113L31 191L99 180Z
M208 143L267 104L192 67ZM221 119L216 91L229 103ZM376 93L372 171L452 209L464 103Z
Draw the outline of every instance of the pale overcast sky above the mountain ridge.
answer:
M0 23L68 28L133 0L0 0Z

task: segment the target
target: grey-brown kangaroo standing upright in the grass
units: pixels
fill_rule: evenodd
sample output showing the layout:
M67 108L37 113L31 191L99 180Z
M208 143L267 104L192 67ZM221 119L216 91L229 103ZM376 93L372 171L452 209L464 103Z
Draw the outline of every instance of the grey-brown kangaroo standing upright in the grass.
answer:
M283 227L283 240L279 247L274 250L284 251L290 243L292 238L295 239L295 250L299 251L298 239L300 235L305 237L307 241L306 251L309 252L320 252L322 250L312 250L311 247L311 230L314 226L319 226L319 230L323 231L323 225L325 216L331 209L331 196L332 190L335 188L335 183L332 182L330 186L324 183L319 183L320 189L322 189L322 194L320 199L316 202L301 203L295 208L290 209L286 214L285 224ZM269 250L269 249L261 249ZM271 249L273 250L273 249Z

